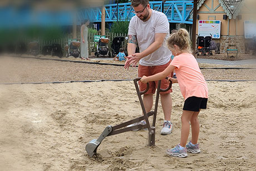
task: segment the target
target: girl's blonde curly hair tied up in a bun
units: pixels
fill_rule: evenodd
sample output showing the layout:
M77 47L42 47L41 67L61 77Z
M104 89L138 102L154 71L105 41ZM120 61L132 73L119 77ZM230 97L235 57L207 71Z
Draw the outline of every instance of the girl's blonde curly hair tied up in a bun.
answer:
M186 29L181 28L170 35L166 44L169 49L173 49L174 45L177 45L181 51L192 53L190 42L189 32Z

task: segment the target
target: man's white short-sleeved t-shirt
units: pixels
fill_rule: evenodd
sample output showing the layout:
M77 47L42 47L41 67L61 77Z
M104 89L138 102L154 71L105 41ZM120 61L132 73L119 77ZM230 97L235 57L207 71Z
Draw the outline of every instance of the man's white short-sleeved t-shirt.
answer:
M137 15L131 18L128 34L136 35L140 52L142 52L155 42L156 33L167 33L163 45L140 60L140 65L144 66L164 65L171 59L171 51L165 45L170 36L169 22L164 13L151 10L151 16L146 22L143 22Z

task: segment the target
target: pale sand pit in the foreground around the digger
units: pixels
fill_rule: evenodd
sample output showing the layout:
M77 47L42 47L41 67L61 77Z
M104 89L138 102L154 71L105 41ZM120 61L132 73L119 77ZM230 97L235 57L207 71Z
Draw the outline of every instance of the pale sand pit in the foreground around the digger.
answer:
M0 85L1 170L255 170L255 82L208 82L208 109L201 112L200 154L168 157L179 143L183 106L173 86L173 133L161 136L159 103L156 146L147 131L104 139L90 158L85 145L108 125L140 115L132 81Z

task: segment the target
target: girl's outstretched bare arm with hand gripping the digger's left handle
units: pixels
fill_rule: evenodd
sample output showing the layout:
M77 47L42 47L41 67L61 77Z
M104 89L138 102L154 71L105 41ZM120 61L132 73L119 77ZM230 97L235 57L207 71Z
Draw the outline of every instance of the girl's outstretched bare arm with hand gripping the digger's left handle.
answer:
M168 76L171 72L173 72L174 69L175 69L175 66L169 65L164 71L159 72L155 75L142 76L140 81L143 83L147 83L149 81L163 80L163 79L165 79L166 76Z

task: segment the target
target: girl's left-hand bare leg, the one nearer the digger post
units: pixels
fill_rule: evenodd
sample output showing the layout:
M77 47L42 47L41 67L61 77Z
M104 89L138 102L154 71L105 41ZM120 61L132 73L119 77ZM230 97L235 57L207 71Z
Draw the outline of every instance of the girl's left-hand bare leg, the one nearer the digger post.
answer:
M180 136L180 146L186 147L186 142L188 141L189 137L189 121L191 120L191 117L193 116L193 111L185 111L183 110L182 116L181 116L181 136Z

